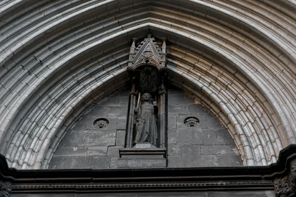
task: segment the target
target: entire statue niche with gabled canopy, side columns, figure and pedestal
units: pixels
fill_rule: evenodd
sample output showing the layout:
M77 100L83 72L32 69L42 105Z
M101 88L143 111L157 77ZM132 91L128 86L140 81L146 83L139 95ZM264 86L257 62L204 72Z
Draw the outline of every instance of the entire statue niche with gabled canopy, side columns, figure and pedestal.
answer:
M118 162L122 167L166 167L166 42L159 47L151 34L137 47L136 42L133 38L127 66L131 91Z

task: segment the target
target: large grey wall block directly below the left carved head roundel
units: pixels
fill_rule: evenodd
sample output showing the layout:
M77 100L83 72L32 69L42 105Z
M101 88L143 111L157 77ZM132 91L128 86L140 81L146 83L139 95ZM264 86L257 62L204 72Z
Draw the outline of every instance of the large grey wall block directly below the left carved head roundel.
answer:
M115 140L114 130L87 131L84 142L86 146L115 146Z

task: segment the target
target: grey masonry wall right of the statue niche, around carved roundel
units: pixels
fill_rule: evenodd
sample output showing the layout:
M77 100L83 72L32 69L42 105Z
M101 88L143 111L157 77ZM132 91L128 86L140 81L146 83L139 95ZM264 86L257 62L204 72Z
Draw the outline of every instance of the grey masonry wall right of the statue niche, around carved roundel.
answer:
M197 127L184 124L199 119ZM174 87L168 90L168 167L238 166L241 157L219 119L192 95Z

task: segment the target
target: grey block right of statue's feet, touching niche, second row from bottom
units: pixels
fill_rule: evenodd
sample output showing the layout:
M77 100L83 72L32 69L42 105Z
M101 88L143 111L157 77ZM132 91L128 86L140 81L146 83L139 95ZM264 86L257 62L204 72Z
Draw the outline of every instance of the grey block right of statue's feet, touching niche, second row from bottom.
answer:
M168 145L168 155L200 155L199 145Z

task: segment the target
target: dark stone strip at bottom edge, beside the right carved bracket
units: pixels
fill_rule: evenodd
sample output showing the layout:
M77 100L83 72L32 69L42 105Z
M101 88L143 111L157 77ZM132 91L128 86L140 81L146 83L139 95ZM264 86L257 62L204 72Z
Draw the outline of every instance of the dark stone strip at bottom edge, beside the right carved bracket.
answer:
M275 197L272 190L267 191L225 191L208 192L208 197Z

